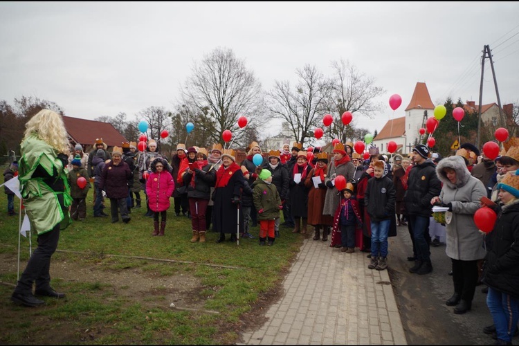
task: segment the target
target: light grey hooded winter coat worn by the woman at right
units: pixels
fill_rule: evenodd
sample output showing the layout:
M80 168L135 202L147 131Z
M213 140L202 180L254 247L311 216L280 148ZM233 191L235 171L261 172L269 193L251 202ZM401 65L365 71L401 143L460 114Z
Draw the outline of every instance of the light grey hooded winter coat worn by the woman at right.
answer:
M445 168L456 172L456 183L447 179ZM446 224L445 253L453 260L474 261L485 256L484 235L474 223L474 213L480 208L480 198L486 196L483 183L471 176L462 156L449 156L439 161L436 174L443 183L439 199L452 203L452 220ZM429 201L430 203L430 201Z

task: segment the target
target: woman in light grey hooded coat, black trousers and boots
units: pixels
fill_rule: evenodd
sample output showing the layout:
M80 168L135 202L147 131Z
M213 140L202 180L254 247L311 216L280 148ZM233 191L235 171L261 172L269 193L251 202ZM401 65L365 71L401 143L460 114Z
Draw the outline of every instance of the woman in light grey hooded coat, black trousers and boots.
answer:
M446 305L455 305L454 313L466 313L477 284L477 261L485 256L484 236L475 226L474 213L480 208L480 198L486 197L486 188L471 176L459 155L439 161L436 174L443 186L439 197L433 197L430 203L441 203L452 213L450 222L446 221L445 253L453 262L454 294Z

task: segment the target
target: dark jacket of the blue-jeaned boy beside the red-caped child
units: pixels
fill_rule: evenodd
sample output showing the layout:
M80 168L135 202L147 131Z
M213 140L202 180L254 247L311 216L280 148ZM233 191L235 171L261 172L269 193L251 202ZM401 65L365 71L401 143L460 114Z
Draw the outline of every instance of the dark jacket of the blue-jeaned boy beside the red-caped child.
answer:
M367 181L364 194L364 208L370 215L370 220L379 222L394 219L394 201L397 192L394 190L393 181L387 174L388 166L385 166L381 178L373 176Z

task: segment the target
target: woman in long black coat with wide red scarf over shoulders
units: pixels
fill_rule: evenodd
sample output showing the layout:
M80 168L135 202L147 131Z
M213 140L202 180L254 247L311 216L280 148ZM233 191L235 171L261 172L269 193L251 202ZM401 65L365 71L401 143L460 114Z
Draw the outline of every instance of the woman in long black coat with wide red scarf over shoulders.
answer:
M244 229L242 208L239 208L242 191L252 195L252 190L236 163L234 151L224 152L221 161L222 165L216 173L215 192L212 194L212 199L215 201L212 206L212 230L220 233L217 243L224 242L226 233L230 233L229 240L235 242L237 228L240 233L243 233Z

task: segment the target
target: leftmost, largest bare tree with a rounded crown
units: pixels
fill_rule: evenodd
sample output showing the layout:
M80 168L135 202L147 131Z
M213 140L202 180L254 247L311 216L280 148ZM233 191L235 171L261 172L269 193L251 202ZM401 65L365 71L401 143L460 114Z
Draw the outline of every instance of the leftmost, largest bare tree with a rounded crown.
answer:
M196 116L190 121L213 143L224 143L221 134L229 129L235 143L244 145L246 131L238 131L238 118L246 116L247 127L257 126L262 118L261 84L229 48L216 48L195 63L181 93L181 103Z

